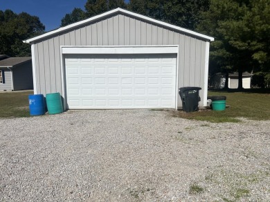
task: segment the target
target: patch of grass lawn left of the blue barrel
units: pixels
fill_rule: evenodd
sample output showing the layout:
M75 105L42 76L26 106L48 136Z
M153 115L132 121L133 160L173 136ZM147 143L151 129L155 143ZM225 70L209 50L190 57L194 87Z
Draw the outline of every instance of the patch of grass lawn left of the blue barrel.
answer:
M0 117L30 117L27 92L5 92L0 93Z

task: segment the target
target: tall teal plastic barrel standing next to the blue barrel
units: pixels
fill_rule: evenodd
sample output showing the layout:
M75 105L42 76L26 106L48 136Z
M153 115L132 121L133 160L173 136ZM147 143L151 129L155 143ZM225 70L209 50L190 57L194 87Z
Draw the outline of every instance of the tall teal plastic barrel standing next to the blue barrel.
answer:
M48 114L60 114L63 112L62 99L59 92L46 94Z

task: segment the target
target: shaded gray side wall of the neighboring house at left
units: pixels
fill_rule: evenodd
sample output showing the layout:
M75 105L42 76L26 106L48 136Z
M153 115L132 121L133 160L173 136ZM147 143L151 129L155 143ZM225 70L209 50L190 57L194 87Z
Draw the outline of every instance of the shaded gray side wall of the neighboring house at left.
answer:
M12 69L14 90L33 89L32 61L17 65Z

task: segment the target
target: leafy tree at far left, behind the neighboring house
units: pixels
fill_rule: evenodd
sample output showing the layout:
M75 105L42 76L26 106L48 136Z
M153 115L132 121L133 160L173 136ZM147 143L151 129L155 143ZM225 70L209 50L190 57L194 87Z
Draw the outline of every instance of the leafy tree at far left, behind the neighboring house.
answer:
M45 27L38 17L26 12L0 10L0 54L11 57L30 56L30 46L22 41L44 33Z

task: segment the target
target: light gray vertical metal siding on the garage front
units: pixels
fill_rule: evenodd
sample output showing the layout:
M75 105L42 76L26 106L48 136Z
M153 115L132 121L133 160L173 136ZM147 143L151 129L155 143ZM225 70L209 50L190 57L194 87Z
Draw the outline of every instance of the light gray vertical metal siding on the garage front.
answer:
M124 14L114 14L35 43L37 93L62 93L60 46L143 45L179 45L179 88L190 85L204 88L206 41Z

